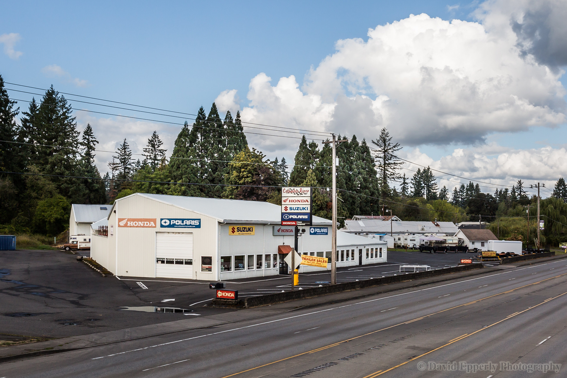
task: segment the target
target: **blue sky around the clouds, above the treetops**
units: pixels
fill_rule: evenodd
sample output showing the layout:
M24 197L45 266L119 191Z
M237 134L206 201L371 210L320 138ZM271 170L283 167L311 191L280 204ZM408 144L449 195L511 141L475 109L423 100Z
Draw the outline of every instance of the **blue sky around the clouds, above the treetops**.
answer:
M496 5L491 5L489 15L500 11L506 12L508 6L506 0L492 3ZM313 93L304 86L304 79L306 75L310 75L310 69L317 70L322 66L321 61L325 57L336 52L337 55L342 53L343 56L348 56L349 52L335 49L338 40L362 39L364 44L369 41L367 36L369 28L374 29L376 26L384 26L403 19L406 19L407 24L411 26L410 22L414 20L408 19L410 14L425 13L430 18L475 22L479 19L478 16L473 16L473 12L479 6L482 6L482 3L444 1L248 1L239 3L238 6L235 6L234 2L223 1L160 4L9 2L3 4L3 12L12 16L3 18L0 36L18 33L19 40L14 44L14 49L22 54L14 58L7 53L0 53L0 74L11 83L40 88L53 84L56 90L61 92L188 113L195 113L200 105L204 105L208 111L210 104L222 91L237 90L238 97L235 97L234 106L241 110L246 107L262 109L260 105L256 107L250 105L257 99L247 99L251 80L260 73L272 78L270 88L275 88L280 78L294 75L299 89L307 95ZM434 23L431 20L424 22ZM490 18L480 22L486 25L488 33ZM416 28L422 27L417 26L421 25L417 22L414 24ZM438 44L439 40L436 41L435 43ZM373 69L379 71L382 68L378 65ZM564 69L564 65L559 69ZM320 70L323 71L322 68ZM524 71L517 75L518 81L529 79L525 77ZM316 81L312 76L309 79ZM565 87L567 83L565 75L560 80ZM553 84L552 81L547 80L545 83L549 87ZM316 95L325 97L325 90L317 92ZM379 95L379 93L369 94L359 87L356 87L354 92L350 92L353 96L357 94L370 96L371 100L375 100ZM391 92L386 91L384 94L402 104L403 96L396 99ZM16 94L16 92L10 92L10 95L24 100L29 100L32 96ZM544 100L541 101L543 105L539 105L542 108L547 106ZM537 102L538 100L532 101L534 104ZM99 110L92 105L74 104L79 108ZM407 106L409 109L412 108L411 104ZM22 103L20 107L26 109L27 104ZM563 114L564 104L556 105L553 110L557 114ZM122 113L126 114L126 112ZM278 122L282 122L280 125L288 124L282 118L270 114L266 113L264 117L259 118L250 116L252 117L250 120L262 120L275 125L278 125ZM421 114L414 120L429 115ZM140 126L136 135L134 130L136 125L122 125L120 120L113 117L99 117L93 114L87 117L79 115L79 112L77 116L80 126L84 126L87 121L94 125L95 133L98 132L101 141L101 148L113 149L121 138L126 137L132 143L134 152L136 150L139 152L144 138L149 137L151 133L150 129L157 128L171 151L173 139L179 130L177 126L146 124ZM294 119L297 118L296 116L297 114L294 115ZM556 119L561 118L557 117ZM506 122L513 124L516 121ZM526 124L528 123L526 121ZM328 124L331 125L332 122ZM301 125L310 129L316 128L316 125L308 123ZM424 128L430 127L431 134L436 132L434 124L432 125L424 126ZM550 125L554 128L549 128ZM396 130L395 124L387 127ZM520 177L522 173L511 175L499 173L491 177L490 164L499 163L486 163L484 166L481 162L483 159L480 159L479 167L467 171L466 165L471 164L472 158L447 166L443 165L447 164L443 163L443 157L451 155L455 148L466 150L464 156L484 154L493 156L494 159L497 159L499 154L510 154L512 150L528 151L535 148L535 152L532 152L538 155L538 148L546 146L560 154L561 148L565 147L565 128L565 122L538 124L537 127L531 127L527 131L519 131L521 128L513 126L502 130L495 124L493 129L488 127L483 133L471 132L471 142L459 137L446 140L443 137L437 137L438 140L433 137L433 142L424 138L424 143L420 143L419 139L417 142L416 139L410 141L407 138L407 131L405 133L399 131L400 134L397 135L406 146L404 153L407 155L404 156L407 158L459 175L468 175L467 177L492 179L504 185L518 178L537 179L538 171L541 172L541 169L523 167L519 164L515 167L518 172L523 172L522 167L526 170L526 175L522 177ZM331 129L329 126L328 130ZM349 134L350 128L332 130ZM369 129L367 133L365 129L356 130L363 134L362 137L370 139L378 129ZM393 134L396 135L395 132ZM488 145L479 142L483 140L482 138L486 138ZM257 141L257 143L260 149L268 153L269 158L284 155L289 160L293 158L297 149L295 141L289 143L286 141L284 144L287 146L279 142ZM517 156L521 155L518 154ZM99 168L104 172L104 160L108 160L109 156L99 155ZM502 171L505 170L506 168L503 167ZM543 175L545 177L541 177L542 180L551 180L552 176L567 175L566 165L560 164L549 170L557 172L557 175L549 173Z

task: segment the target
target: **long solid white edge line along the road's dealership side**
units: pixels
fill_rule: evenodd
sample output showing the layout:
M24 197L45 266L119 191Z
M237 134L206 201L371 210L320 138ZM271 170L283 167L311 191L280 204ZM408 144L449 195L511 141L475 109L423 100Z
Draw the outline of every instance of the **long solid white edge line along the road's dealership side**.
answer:
M555 264L556 262L559 262L559 261L546 262L545 264L541 264L541 265ZM154 347L158 347L158 346L164 346L164 345L175 344L175 343L182 342L182 341L188 341L188 340L197 339L197 338L201 338L201 337L212 336L212 335L221 334L221 333L226 333L226 332L232 332L232 331L236 331L236 330L240 330L240 329L246 329L246 328L251 328L251 327L259 326L259 325L271 324L271 323L274 323L274 322L283 321L283 320L289 320L289 319L293 319L293 318L296 318L296 317L302 317L302 316L307 316L307 315L314 315L314 314L317 314L317 313L327 312L327 311L331 311L331 310L335 310L335 309L339 309L339 308L345 308L345 307L349 307L349 306L356 305L356 304L365 304L365 303L374 302L374 301L376 301L376 300L395 298L396 296L407 295L407 294L413 294L413 293L416 293L416 292L426 291L426 290L430 290L430 289L433 289L433 288L439 288L439 287L450 286L450 285L454 285L454 284L456 284L456 283L463 283L463 282L469 282L469 281L476 281L477 279L489 278L489 277L494 277L494 276L497 276L497 275L507 274L507 273L514 273L514 272L516 272L516 271L521 271L521 270L524 270L524 269L532 269L532 268L534 268L534 267L538 267L538 266L541 266L541 265L527 266L527 267L523 267L523 268L521 268L521 269L508 270L508 271L503 271L502 273L496 273L496 274L491 274L491 275L485 275L484 277L477 277L477 278L465 279L465 280L463 280L463 281L452 282L452 283L446 283L446 284L443 284L443 285L428 287L428 288L420 289L420 290L416 290L416 291L408 291L408 292L404 292L404 293L401 293L401 294L395 294L395 295L390 295L390 296L384 296L384 297L382 297L382 298L370 299L370 300L365 300L365 301L361 301L361 302L357 302L357 303L352 303L352 304L345 304L345 305L343 305L343 306L327 308L327 309L320 310L320 311L308 312L308 313L304 313L304 314L301 314L301 315L295 315L295 316L285 317L285 318L281 318L281 319L270 320L270 321L261 322L261 323L257 323L257 324L251 324L251 325L242 326L242 327L239 327L239 328L232 328L232 329L227 329L227 330L224 330L224 331L219 331L219 332L214 332L214 333L208 333L208 334L204 334L204 335L200 335L200 336L189 337L189 338L180 339L180 340L175 340L175 341L170 341L170 342L166 342L166 343L162 343L162 344L156 344L156 345L146 346L146 347L143 347L143 348L127 350L127 351L124 351L124 352L118 352L118 353L114 353L114 354L107 354L107 355L105 355L105 356L100 356L100 357L91 358L91 360L96 360L96 359L105 358L105 357L112 357L112 356L116 356L116 355L119 355L119 354L125 354L125 353L129 353L129 352L136 352L136 351L139 351L139 350L145 350L145 349L154 348ZM567 266L567 265L566 265L566 266ZM209 300L210 300L210 299L209 299ZM199 302L197 302L197 303L199 303ZM195 303L194 303L194 304L195 304ZM394 307L394 308L396 308L396 307ZM392 309L393 309L393 308L392 308Z

